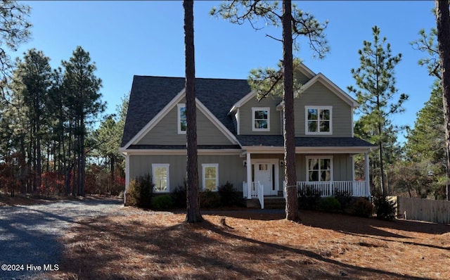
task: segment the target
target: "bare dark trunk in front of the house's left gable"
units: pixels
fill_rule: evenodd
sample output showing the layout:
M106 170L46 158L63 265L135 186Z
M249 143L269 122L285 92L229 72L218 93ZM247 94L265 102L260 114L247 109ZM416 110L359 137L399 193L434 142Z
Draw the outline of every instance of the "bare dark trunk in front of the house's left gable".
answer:
M184 45L186 58L186 141L187 158L187 215L186 222L201 222L198 196L197 118L195 115L195 56L193 1L184 0Z

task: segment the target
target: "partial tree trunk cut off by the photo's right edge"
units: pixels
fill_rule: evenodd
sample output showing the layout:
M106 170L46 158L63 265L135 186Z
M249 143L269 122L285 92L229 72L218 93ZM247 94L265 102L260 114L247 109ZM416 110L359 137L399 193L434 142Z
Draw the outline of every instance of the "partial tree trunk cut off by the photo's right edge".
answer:
M444 106L445 146L447 153L447 187L449 198L450 184L450 15L449 1L436 0L437 43L441 65L442 102ZM446 71L449 70L449 71Z

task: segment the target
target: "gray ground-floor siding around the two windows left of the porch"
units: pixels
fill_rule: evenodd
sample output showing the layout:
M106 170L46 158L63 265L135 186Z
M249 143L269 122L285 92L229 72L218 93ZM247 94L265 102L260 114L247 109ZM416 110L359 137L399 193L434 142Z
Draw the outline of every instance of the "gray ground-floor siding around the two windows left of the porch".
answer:
M242 191L242 182L247 178L243 158L239 155L198 155L198 182L203 184L202 164L219 165L219 186L227 181ZM183 186L186 178L186 155L130 155L130 179L152 174L152 164L169 164L169 190Z

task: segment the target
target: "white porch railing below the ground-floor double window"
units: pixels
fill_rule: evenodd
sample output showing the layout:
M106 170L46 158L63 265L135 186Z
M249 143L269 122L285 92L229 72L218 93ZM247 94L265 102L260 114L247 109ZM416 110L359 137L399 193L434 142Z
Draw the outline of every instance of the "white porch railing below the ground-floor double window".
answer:
M283 182L283 196L285 197L285 182ZM297 195L306 192L320 193L321 196L336 196L347 193L349 196L371 196L364 181L328 181L328 182L297 182ZM311 194L312 194L311 193Z

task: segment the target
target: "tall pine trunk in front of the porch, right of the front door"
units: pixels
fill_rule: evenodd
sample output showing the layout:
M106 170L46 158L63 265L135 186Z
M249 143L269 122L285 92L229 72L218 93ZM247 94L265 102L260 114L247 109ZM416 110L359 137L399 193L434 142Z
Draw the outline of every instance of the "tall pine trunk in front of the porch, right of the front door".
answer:
M284 160L286 182L286 219L300 221L297 203L297 177L295 174L295 130L294 130L294 76L293 35L291 1L283 1L283 122Z

